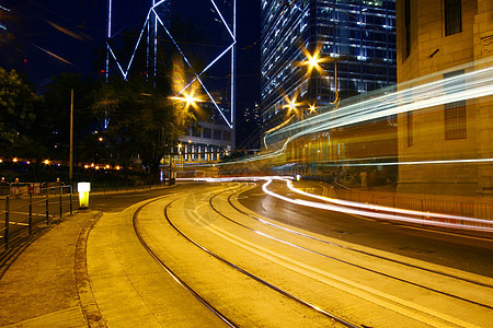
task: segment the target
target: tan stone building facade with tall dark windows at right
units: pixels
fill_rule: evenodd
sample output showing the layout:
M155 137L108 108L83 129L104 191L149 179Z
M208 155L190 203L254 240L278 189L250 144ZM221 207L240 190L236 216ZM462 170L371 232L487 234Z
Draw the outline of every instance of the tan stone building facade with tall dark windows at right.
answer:
M397 34L398 83L411 94L431 81L463 75L468 83L493 62L493 0L398 0ZM400 192L493 194L493 165L484 161L493 157L492 96L400 114L398 136L400 163L431 162L400 165Z

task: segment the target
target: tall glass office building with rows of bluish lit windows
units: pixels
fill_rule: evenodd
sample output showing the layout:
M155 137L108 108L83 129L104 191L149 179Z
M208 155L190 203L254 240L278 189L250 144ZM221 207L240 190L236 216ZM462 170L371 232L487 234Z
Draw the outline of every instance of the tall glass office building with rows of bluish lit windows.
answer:
M303 49L326 59L323 73L300 65ZM395 1L262 0L261 56L264 131L285 119L287 98L330 110L337 93L395 83Z

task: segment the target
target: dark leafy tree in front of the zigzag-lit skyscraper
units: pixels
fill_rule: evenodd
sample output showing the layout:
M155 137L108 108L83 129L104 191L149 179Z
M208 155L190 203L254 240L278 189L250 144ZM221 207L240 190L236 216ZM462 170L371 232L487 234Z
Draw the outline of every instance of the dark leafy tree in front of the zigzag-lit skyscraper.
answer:
M125 171L130 159L140 157L150 181L157 183L161 159L177 143L185 126L195 120L193 113L175 107L165 89L153 89L139 78L111 80L96 89L92 97L94 116L110 119L102 132L112 157Z

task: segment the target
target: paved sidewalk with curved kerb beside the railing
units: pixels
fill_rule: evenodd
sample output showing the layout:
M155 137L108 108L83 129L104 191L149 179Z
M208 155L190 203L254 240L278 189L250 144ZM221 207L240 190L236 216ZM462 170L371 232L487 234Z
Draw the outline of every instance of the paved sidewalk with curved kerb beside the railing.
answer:
M0 327L105 326L85 273L85 239L99 216L67 216L16 258L0 280Z

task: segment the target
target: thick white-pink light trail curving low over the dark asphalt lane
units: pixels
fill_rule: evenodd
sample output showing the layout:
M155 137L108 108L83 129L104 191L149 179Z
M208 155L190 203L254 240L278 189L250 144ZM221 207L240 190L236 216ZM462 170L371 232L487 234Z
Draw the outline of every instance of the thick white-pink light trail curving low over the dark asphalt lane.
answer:
M310 207L310 208L328 210L328 211L334 211L334 212L348 213L348 214L367 216L367 218L369 216L369 218L395 221L395 222L408 222L408 223L434 225L434 226L440 226L440 227L462 229L462 230L472 230L472 231L482 231L482 232L493 232L493 227L491 227L491 226L471 226L471 225L459 224L459 223L437 222L437 221L429 221L429 220L424 220L424 219L408 218L408 216L402 216L402 215L376 213L376 212L371 212L371 211L357 210L357 209L352 209L352 208L347 208L347 207L333 206L333 204L328 204L328 203L320 203L320 202L308 201L308 200L302 200L302 199L291 199L291 198L288 198L288 197L285 197L285 196L280 196L278 194L275 194L275 192L268 190L267 186L272 181L273 181L272 178L267 178L267 183L262 186L262 190L265 194L267 194L267 195L270 195L272 197L275 197L277 199L280 199L280 200L284 200L284 201L287 201L287 202L290 202L290 203L294 203L294 204L298 204L298 206ZM371 209L370 207L372 207L372 206L362 204L360 207L362 208L367 208L368 210L370 210ZM388 208L388 209L390 209L390 208ZM388 211L388 209L387 209L387 211ZM398 209L395 209L395 210L392 209L391 212L397 212L397 210ZM403 210L403 211L405 211L405 210ZM422 215L422 216L429 216L429 214L431 214L431 213L427 213L427 212L419 212L419 211L416 211L416 213L420 213L417 215ZM447 215L446 214L442 215L442 218L445 218L445 216L447 216ZM472 222L478 222L478 223L489 223L489 224L492 223L490 221L472 219L472 218L462 218L462 216L456 216L456 218L460 218L458 220L472 221Z

